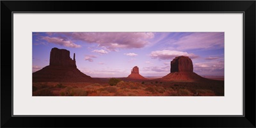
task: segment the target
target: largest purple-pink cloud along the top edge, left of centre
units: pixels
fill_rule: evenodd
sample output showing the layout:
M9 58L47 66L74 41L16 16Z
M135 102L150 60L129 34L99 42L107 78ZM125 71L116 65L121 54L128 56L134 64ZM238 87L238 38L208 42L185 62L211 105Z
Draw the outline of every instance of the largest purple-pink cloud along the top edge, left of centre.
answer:
M76 32L60 34L66 35L72 40L99 44L99 47L106 47L110 51L145 47L145 45L150 44L148 40L154 38L154 33L141 32Z

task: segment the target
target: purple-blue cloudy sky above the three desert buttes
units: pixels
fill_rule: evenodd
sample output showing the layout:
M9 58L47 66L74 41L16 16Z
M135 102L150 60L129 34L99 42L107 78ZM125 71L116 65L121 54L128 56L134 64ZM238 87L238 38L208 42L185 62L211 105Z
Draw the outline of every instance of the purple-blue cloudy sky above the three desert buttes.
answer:
M77 68L91 77L166 76L170 61L189 56L200 76L224 76L223 32L33 32L33 72L49 65L53 47L76 53Z

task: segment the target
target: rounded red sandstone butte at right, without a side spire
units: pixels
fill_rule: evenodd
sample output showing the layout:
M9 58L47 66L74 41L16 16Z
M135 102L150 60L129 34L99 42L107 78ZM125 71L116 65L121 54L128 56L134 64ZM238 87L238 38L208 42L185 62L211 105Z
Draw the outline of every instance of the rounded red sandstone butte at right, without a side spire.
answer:
M162 77L163 81L198 81L207 80L193 72L193 62L188 56L178 56L171 61L170 74Z

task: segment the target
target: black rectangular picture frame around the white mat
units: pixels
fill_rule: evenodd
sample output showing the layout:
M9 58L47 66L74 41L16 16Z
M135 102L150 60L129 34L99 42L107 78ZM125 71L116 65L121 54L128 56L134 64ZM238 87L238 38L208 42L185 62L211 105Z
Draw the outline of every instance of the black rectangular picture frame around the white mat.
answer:
M1 1L1 127L255 127L255 5L255 1ZM244 116L12 116L12 12L243 12Z

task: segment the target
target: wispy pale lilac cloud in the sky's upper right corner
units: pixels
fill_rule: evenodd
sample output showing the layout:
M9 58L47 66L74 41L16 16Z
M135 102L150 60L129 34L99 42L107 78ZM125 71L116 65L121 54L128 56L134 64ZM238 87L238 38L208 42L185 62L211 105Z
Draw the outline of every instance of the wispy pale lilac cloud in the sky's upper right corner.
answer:
M175 40L172 44L177 45L176 49L179 51L187 49L220 49L224 48L224 33L191 33Z

